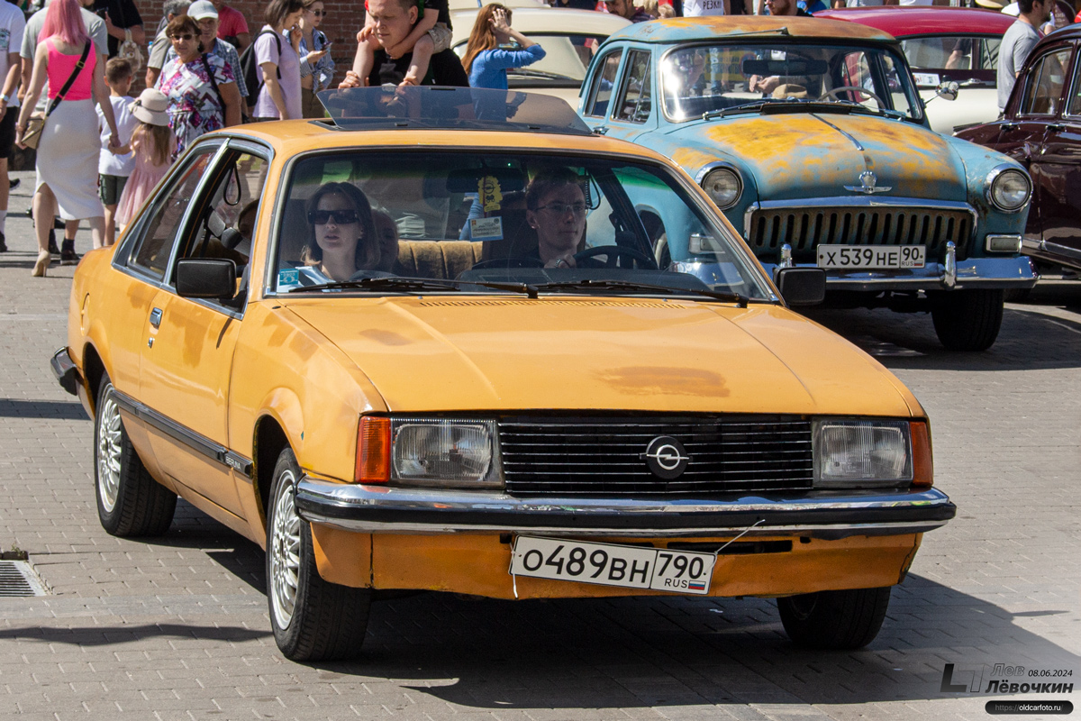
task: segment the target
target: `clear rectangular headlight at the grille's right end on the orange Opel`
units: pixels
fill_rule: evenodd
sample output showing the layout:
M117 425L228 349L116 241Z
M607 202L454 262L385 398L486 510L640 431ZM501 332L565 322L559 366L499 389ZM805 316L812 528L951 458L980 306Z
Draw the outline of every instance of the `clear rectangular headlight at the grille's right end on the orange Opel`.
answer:
M814 423L814 486L897 488L912 481L912 441L907 420Z

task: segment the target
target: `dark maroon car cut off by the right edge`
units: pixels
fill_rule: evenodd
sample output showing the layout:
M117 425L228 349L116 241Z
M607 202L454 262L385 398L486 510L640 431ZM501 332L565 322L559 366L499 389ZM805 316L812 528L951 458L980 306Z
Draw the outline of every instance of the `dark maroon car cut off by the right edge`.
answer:
M1081 269L1081 25L1040 40L1005 115L957 134L1014 158L1032 176L1023 252Z

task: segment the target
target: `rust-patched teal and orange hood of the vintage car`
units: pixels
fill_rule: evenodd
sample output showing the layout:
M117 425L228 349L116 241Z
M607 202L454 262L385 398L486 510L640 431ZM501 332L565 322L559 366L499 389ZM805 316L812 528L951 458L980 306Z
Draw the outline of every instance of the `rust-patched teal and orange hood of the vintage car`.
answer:
M753 174L759 200L859 196L860 175L875 173L893 197L964 201L964 166L947 139L885 118L833 114L742 116L677 125L672 159L694 175L731 153ZM678 139L677 139L678 138Z

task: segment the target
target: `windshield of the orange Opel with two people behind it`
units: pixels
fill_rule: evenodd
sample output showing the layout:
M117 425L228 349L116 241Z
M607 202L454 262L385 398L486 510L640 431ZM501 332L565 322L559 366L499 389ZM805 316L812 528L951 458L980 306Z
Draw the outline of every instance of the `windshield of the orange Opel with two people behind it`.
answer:
M716 210L649 163L335 151L294 162L282 209L277 292L507 293L528 284L531 294L772 299Z

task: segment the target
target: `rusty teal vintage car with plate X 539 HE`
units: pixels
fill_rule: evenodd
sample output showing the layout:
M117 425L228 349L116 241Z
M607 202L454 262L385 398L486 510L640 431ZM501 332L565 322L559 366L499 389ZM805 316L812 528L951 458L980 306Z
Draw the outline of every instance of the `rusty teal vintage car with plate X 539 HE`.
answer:
M932 132L900 46L880 30L806 17L640 23L598 50L578 111L593 132L680 163L768 271L824 268L831 305L930 311L949 349L989 348L1003 292L1036 283L1019 254L1028 173ZM684 272L720 282L693 237L668 246L665 209L643 196L639 212L658 263L683 258Z

